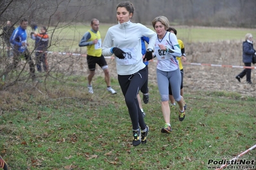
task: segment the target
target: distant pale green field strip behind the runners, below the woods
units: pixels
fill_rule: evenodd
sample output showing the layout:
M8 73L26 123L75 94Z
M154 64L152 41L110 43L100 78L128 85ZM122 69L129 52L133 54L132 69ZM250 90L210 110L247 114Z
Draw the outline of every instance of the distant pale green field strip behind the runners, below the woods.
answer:
M104 40L107 30L113 24L100 24L99 31L101 38ZM152 26L148 26L153 30ZM221 40L241 40L244 41L246 33L256 35L255 29L235 29L235 28L217 28L217 27L189 27L177 26L178 38L185 43L191 42L216 42ZM49 50L56 52L85 52L85 47L78 47L78 43L85 32L90 29L90 24L71 24L69 26L55 29L49 27L48 34L51 39L52 46ZM29 32L30 30L28 30ZM54 31L54 32L53 32ZM54 35L52 35L54 33ZM31 42L31 40L30 40ZM31 42L33 44L33 42Z

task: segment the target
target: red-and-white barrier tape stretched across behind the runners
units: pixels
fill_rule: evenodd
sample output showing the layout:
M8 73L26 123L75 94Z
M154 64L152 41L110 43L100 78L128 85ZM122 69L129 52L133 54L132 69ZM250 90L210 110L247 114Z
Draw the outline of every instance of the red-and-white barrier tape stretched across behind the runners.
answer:
M43 52L42 50L35 50L35 52ZM46 51L49 54L62 54L62 55L71 55L71 56L87 56L87 54L77 54L72 52L52 52ZM105 56L105 58L113 59L112 56ZM150 61L157 61L157 60L150 60ZM230 67L230 68L252 68L256 69L255 66L232 66L232 65L213 65L213 64L206 64L206 63L182 63L182 65L201 65L201 66L220 66L220 67Z

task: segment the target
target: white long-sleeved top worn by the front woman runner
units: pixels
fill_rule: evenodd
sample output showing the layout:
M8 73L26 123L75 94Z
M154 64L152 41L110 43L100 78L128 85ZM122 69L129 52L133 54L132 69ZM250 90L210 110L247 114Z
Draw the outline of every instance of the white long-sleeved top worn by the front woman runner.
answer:
M108 29L102 47L103 56L111 56L112 47L126 52L124 59L115 57L118 75L131 75L145 67L141 53L142 36L149 38L148 49L154 49L157 34L142 24L128 21Z

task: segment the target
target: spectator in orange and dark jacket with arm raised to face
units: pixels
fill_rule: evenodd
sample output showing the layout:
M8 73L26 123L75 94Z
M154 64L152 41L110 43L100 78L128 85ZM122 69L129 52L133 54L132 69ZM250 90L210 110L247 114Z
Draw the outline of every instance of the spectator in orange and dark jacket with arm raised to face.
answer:
M42 66L45 72L48 72L47 63L47 47L49 43L49 36L46 33L46 27L40 27L39 33L32 32L30 37L35 40L35 65L37 66L37 71L42 72Z

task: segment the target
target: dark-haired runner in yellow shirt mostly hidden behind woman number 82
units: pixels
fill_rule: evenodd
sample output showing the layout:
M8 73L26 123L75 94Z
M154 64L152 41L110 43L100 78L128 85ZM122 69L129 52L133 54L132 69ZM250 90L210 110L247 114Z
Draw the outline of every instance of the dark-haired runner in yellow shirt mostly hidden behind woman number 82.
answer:
M177 35L177 31L175 28L173 27L169 27L169 29L167 29L167 31L174 33L175 35ZM178 44L180 45L180 49L182 51L182 56L180 58L176 58L178 60L178 65L180 67L180 73L182 74L182 83L180 85L180 95L183 97L183 66L182 66L182 61L185 62L187 61L186 55L185 55L185 47L184 44L182 42L182 40L178 40ZM175 107L175 99L173 98L173 93L171 92L171 86L169 86L169 100L171 101L171 107ZM183 97L184 98L184 97ZM184 101L184 109L187 109L187 104Z

